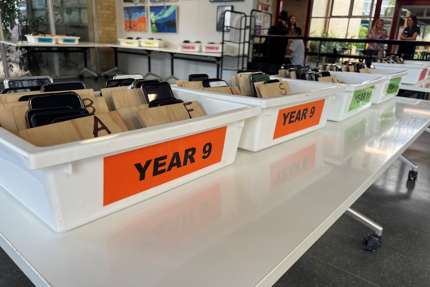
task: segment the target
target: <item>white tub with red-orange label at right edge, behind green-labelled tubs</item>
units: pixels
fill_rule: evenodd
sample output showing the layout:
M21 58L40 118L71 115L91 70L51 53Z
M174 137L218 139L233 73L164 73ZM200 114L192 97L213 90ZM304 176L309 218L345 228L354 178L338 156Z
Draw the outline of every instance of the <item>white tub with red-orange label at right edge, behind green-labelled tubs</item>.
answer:
M409 74L402 79L403 84L416 84L424 81L430 72L430 62L407 61L404 64L373 62L372 65L376 69L408 70Z

